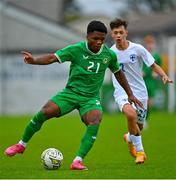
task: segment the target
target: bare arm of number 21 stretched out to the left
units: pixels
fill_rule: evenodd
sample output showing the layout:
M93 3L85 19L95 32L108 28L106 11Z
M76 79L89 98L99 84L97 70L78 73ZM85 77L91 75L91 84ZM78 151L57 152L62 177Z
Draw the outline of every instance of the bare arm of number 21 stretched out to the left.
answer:
M24 56L24 62L26 64L47 65L47 64L52 64L54 62L58 62L58 59L54 54L47 54L34 58L33 55L29 52L22 51L21 53Z

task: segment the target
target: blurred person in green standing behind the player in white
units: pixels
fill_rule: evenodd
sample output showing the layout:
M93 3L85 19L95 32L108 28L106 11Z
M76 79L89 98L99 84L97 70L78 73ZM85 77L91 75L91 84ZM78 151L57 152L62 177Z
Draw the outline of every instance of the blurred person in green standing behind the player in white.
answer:
M160 54L156 51L156 41L152 35L147 35L144 37L144 46L152 54L155 59L155 63L161 66L162 59ZM143 78L148 90L148 112L153 107L153 98L157 90L157 77L158 75L152 71L151 68L147 67L145 64L143 66ZM147 117L148 119L148 117Z

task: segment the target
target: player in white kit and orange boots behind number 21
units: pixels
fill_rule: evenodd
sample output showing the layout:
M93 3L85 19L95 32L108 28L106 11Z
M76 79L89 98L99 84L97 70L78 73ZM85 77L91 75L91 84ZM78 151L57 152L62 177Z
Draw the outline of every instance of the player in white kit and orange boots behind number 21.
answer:
M163 80L163 83L171 83L165 72L155 63L152 55L140 44L128 41L127 22L115 19L110 22L111 36L115 44L111 49L117 54L121 69L124 72L134 95L143 103L143 108L128 101L128 96L123 87L115 80L113 75L114 97L119 109L125 114L128 121L128 133L124 140L128 144L129 151L135 157L135 163L144 163L144 152L141 130L147 113L147 89L142 77L142 65L150 66Z

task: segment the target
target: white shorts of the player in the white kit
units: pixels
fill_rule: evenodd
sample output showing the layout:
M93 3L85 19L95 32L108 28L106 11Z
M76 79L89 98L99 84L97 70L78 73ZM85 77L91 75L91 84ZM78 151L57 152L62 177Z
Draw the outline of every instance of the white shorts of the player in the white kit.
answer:
M115 102L117 103L120 111L122 112L123 106L125 104L130 104L128 101L128 97L127 96L121 96L121 97L115 97ZM137 111L137 122L140 124L143 124L144 121L146 120L146 116L147 116L147 99L139 99L139 101L142 102L143 104L143 108L139 107L139 106L135 106L134 104L132 104L133 108L136 109Z

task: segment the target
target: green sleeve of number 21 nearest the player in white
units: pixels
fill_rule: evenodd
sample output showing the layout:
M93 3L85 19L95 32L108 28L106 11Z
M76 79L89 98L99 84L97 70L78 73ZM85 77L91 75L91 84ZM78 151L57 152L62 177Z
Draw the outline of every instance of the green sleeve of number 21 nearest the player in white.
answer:
M120 66L119 66L117 55L115 54L115 52L111 50L110 54L111 54L111 61L109 64L109 69L111 70L112 73L115 73L120 70Z

